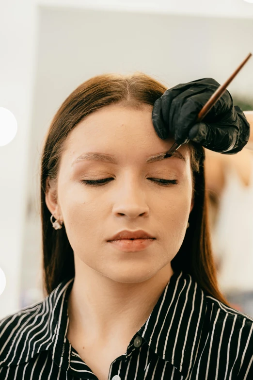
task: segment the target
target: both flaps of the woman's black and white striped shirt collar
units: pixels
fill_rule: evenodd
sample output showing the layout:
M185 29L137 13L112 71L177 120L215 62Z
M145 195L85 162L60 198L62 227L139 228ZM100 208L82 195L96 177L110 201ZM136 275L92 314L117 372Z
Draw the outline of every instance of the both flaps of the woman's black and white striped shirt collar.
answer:
M73 280L61 282L35 310L30 307L32 312L19 312L19 320L23 317L19 325L20 333L0 355L2 365L28 362L37 353L50 350L54 362L68 370L71 346L66 339L69 321L67 299ZM149 318L129 343L126 356L121 356L122 360L126 360L134 338L141 335L160 358L172 363L186 377L194 364L205 304L204 292L192 277L175 272ZM39 325L41 330L38 332Z

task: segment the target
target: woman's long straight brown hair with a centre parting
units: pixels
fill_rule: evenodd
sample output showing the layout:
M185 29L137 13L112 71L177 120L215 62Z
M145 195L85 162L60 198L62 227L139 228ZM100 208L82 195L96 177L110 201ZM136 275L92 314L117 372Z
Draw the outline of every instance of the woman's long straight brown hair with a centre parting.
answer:
M143 104L154 102L167 88L142 73L131 75L103 74L80 84L58 109L44 140L41 158L41 222L43 249L43 282L47 294L58 284L75 276L73 249L67 238L64 224L55 230L50 222L45 195L48 186L55 185L60 159L68 134L85 116L112 103L141 109ZM210 242L207 193L205 188L202 146L188 143L194 189L194 206L190 213L190 227L182 246L172 260L172 268L189 273L209 295L227 303L217 283ZM49 181L48 181L49 180ZM56 186L55 186L56 188ZM55 194L57 199L57 194Z

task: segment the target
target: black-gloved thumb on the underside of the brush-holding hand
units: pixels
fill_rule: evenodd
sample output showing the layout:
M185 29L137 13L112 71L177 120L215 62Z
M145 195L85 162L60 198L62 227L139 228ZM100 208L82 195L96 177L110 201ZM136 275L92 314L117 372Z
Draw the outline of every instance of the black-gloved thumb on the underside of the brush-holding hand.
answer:
M216 152L226 152L237 144L239 131L236 126L222 124L195 124L189 131L190 140Z

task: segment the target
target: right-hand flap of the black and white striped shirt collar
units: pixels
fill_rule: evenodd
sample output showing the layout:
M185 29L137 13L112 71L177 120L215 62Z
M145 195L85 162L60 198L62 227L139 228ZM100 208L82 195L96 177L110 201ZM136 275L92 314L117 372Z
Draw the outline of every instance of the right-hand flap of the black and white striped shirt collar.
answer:
M157 355L188 378L206 314L206 296L190 274L175 272L139 331Z

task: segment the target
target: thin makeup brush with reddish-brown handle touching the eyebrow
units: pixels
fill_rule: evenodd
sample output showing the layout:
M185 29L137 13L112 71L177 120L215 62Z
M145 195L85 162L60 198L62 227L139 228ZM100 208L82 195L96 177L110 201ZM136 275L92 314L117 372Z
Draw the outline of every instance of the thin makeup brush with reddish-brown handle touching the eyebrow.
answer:
M249 53L247 57L244 59L244 61L237 67L237 69L234 71L234 73L226 80L225 83L221 84L220 87L217 88L217 90L213 93L213 95L210 97L210 99L206 102L204 107L200 110L196 123L199 123L206 114L210 111L212 106L221 98L221 95L225 92L227 86L233 81L235 76L238 74L238 72L241 70L241 68L246 64L246 62L250 59L252 56L252 53ZM187 142L190 140L188 139ZM163 160L164 158L171 157L174 152L181 147L182 144L174 143L173 146L166 152L166 153L159 153L156 156L152 156L153 158L161 157L160 159ZM151 159L151 158L150 158Z

